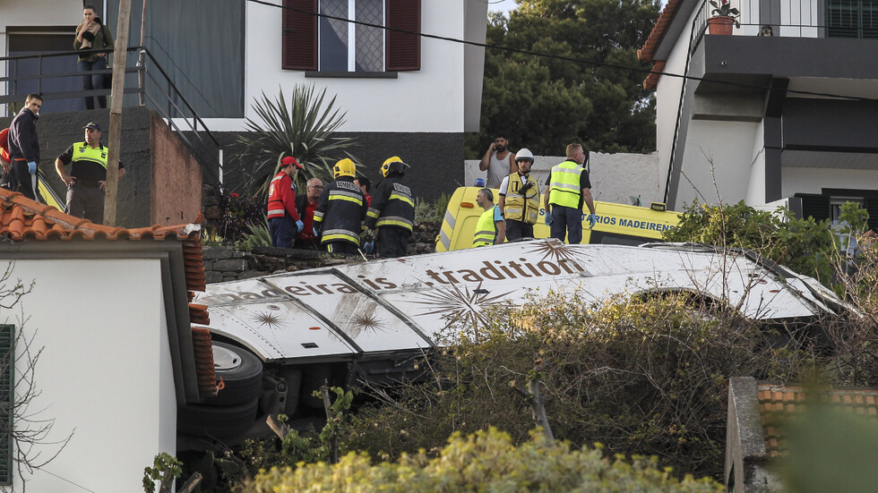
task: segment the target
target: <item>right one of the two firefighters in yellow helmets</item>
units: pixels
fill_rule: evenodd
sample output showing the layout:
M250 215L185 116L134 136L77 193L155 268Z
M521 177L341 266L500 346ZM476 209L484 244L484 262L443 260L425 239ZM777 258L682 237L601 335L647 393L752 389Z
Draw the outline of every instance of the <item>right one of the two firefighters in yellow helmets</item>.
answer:
M383 259L405 257L409 254L411 227L415 222L415 200L411 189L402 183L409 165L399 156L386 159L381 166L384 179L375 187L372 206L366 216L366 226L378 229L375 244Z

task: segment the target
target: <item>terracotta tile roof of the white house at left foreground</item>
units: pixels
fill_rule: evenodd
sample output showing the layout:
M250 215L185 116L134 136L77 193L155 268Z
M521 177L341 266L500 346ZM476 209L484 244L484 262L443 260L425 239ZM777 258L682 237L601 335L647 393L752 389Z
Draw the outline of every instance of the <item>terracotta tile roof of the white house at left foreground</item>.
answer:
M198 222L201 220L201 217L196 219ZM211 323L207 307L191 303L193 292L204 291L206 288L202 242L198 228L192 225L154 225L140 228L96 225L27 199L19 192L0 188L0 238L15 242L178 240L183 246L190 323ZM192 327L192 336L200 394L216 395L218 382L213 370L210 330Z

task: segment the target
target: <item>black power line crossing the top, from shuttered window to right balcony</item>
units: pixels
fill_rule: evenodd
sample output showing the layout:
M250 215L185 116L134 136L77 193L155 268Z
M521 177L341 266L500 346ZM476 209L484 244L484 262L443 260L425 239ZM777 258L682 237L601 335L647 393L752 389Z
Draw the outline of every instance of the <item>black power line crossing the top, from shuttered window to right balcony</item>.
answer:
M684 79L684 80L688 80L688 81L705 81L705 82L710 82L710 83L714 83L714 84L722 84L722 85L736 87L736 88L760 89L760 90L768 90L768 91L777 90L777 89L771 88L769 86L747 84L744 82L718 81L718 80L713 80L713 79L707 79L704 77L694 77L693 75L684 75L684 74L674 73L674 72L659 72L659 71L653 71L650 69L641 69L641 68L637 68L637 67L626 67L624 65L619 65L619 64L607 64L606 62L595 62L593 60L583 60L581 58L572 58L570 56L553 55L550 53L540 53L537 51L530 51L530 50L512 48L512 47L504 47L501 45L494 45L494 44L489 44L489 43L478 43L476 41L468 41L466 39L451 38L448 36L438 36L435 34L427 34L424 32L416 32L416 31L411 31L411 30L403 30L400 28L391 28L391 27L387 27L387 26L382 26L380 24L373 24L373 23L364 22L364 21L355 21L352 19L346 19L344 17L338 17L335 15L329 15L326 13L316 13L316 12L306 11L303 9L297 9L296 7L271 4L270 2L267 2L265 0L246 0L246 1L254 3L254 4L266 5L266 6L275 7L275 8L279 8L282 10L288 10L288 11L292 11L292 12L296 12L296 13L305 13L307 15L311 15L311 16L318 17L318 18L322 17L325 19L331 19L333 21L348 22L350 24L356 24L356 25L366 26L368 28L375 28L375 29L380 29L380 30L391 30L391 31L400 32L403 34L410 34L410 35L414 35L414 36L419 36L421 38L437 39L440 41L448 41L448 42L452 42L452 43L458 43L461 45L469 45L471 47L482 47L482 48L487 48L487 49L496 49L496 50L506 51L506 52L510 52L510 53L518 53L521 55L530 55L530 56L536 56L536 57L540 57L540 58L551 58L551 59L555 59L555 60L561 60L564 62L572 62L574 64L590 65L590 66L594 66L594 67L607 67L607 68L612 68L612 69L624 70L624 71L628 71L628 72L640 72L643 74L656 74L656 75L661 75L661 76L665 76L665 77L673 77L676 79ZM833 94L833 93L828 93L828 92L816 92L816 91L801 90L801 89L786 89L786 93L797 94L797 95L801 95L801 96L819 96L819 97L823 97L823 98L842 98L842 99L850 99L850 100L854 100L854 101L876 101L876 100L878 100L875 98L863 98L860 96L848 96L848 95L844 95L844 94Z

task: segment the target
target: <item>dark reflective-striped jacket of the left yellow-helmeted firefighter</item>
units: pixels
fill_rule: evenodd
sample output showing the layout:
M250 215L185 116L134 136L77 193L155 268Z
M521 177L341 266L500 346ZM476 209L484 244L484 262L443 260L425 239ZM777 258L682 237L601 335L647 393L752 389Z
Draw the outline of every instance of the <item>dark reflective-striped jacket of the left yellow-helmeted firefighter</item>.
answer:
M340 176L326 185L314 211L314 227L322 230L320 243L349 242L359 247L367 211L366 196L353 178Z

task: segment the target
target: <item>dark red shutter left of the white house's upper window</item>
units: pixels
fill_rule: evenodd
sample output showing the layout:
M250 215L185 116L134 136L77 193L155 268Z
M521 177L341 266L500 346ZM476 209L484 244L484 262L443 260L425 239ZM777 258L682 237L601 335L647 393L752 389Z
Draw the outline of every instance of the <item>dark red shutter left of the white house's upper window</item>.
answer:
M317 12L317 0L284 0L284 7ZM284 9L283 68L317 70L317 16Z

